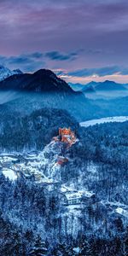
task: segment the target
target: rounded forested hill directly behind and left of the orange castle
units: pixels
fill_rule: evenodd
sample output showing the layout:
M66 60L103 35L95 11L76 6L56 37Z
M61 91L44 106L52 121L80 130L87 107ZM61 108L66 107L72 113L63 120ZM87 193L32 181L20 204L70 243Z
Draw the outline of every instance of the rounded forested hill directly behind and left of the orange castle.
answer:
M22 116L18 111L0 107L0 148L3 151L42 149L58 134L59 127L79 129L77 121L66 110L43 108Z

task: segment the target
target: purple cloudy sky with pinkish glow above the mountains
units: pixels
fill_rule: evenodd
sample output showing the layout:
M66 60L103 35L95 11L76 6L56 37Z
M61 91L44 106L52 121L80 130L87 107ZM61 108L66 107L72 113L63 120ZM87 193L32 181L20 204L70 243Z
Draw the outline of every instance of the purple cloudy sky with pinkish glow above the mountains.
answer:
M127 0L0 0L0 65L128 83Z

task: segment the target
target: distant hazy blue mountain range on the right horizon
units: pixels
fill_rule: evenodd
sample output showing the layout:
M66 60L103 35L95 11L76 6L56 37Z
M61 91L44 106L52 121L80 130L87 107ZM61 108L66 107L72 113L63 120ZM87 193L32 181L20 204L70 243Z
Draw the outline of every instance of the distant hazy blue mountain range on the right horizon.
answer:
M98 82L98 83L92 81L89 84L86 84L86 86L84 86L84 89L82 91L86 92L88 88L93 88L96 91L126 90L125 84L118 84L109 80L106 80L104 82Z

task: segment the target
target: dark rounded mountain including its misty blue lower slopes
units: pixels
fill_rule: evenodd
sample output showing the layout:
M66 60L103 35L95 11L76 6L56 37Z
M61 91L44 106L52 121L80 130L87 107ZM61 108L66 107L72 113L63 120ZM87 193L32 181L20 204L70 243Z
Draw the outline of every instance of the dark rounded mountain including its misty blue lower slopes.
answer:
M74 91L64 80L46 69L4 79L0 82L0 94L3 93L12 97L7 103L9 109L17 109L23 115L40 108L60 108L80 121L96 118L96 113L100 111L81 91Z

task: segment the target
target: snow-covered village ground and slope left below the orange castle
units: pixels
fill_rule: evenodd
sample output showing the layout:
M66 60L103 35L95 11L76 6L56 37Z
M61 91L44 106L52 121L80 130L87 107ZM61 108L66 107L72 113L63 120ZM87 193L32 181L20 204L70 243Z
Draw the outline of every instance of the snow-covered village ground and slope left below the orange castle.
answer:
M0 154L1 170L11 180L23 174L26 178L34 176L36 183L56 183L60 179L59 153L60 148L52 141L38 153Z

